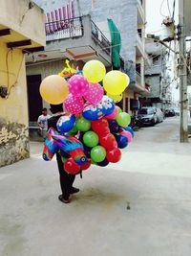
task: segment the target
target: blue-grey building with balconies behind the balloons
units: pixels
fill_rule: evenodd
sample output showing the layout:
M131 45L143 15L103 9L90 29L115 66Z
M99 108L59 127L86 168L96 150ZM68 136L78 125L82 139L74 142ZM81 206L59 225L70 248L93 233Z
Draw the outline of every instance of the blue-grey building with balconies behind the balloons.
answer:
M41 75L43 79L46 75L62 69L64 58L78 61L81 66L89 59L98 58L108 70L112 69L110 32L107 24L107 19L111 18L121 35L121 69L131 79L123 95L123 109L130 113L138 109L138 99L149 95L149 86L144 82L144 63L148 64L149 61L145 54L144 39L145 0L68 0L65 6L61 6L58 0L35 2L47 12L47 57L44 58L47 64L43 66L41 63L41 67L37 67L36 63L35 67L35 63L29 63L32 58L28 59L27 74ZM67 27L67 22L71 24L71 21L74 25ZM48 64L50 58L60 60L52 60ZM43 62L38 56L35 56L35 59ZM40 109L40 106L38 108ZM33 116L33 119L35 118Z

